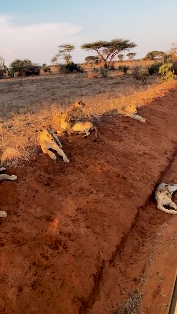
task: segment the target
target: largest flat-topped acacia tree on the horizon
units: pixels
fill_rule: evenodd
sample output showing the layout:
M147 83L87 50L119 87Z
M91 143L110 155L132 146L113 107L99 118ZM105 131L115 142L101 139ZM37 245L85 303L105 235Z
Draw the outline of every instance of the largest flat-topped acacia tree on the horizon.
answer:
M129 39L112 39L111 41L95 41L81 45L81 49L96 51L104 68L109 68L111 62L121 52L134 48L137 45Z

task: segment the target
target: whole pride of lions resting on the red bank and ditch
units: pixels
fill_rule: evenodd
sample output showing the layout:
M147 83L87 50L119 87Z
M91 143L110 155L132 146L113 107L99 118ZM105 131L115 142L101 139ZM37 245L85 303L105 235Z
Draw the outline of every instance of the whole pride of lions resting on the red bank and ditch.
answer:
M83 108L85 107L85 103L81 100L76 100L75 104L65 112L58 112L53 118L53 124L58 128L57 133L62 134L67 131L77 132L83 134L82 138L86 138L90 135L90 131L95 130L95 139L94 142L97 140L97 127L90 121L80 121L76 119L84 120L85 114ZM109 115L123 115L128 116L132 119L139 120L143 123L146 122L146 119L138 116L136 114L137 110L135 106L131 107L124 107L121 110L112 109L106 110L102 113L102 116L109 116ZM56 160L56 155L50 151L49 149L55 150L60 156L63 157L63 161L65 163L69 163L69 159L67 158L66 154L62 149L62 144L60 143L58 136L51 130L51 129L44 129L40 131L39 136L39 144L41 146L42 152L44 154L48 154L50 158ZM2 165L1 165L2 166ZM5 168L0 168L0 171L5 170ZM0 175L0 181L2 180L16 180L17 176L8 176L5 174ZM155 198L158 203L158 208L167 214L177 214L177 206L171 200L172 193L177 190L177 185L171 186L166 183L161 183L155 192ZM174 208L175 210L168 210L163 207L163 205L169 205L170 207ZM0 217L6 217L7 213L0 211Z

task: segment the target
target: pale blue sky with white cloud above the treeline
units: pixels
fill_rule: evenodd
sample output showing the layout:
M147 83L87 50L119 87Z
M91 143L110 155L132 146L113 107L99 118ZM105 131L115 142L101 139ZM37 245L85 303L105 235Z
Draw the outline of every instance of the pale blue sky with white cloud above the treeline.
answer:
M0 11L0 56L50 63L57 46L74 44L73 61L93 54L79 49L89 41L126 38L141 58L151 50L167 51L177 41L177 1L9 0Z

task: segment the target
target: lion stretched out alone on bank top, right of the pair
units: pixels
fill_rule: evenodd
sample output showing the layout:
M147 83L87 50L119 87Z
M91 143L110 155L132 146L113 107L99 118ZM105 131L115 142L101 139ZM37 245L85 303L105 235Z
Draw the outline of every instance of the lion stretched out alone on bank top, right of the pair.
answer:
M126 106L122 109L108 109L102 113L102 116L128 116L134 120L139 120L142 123L146 122L146 119L136 115L137 109L135 105Z

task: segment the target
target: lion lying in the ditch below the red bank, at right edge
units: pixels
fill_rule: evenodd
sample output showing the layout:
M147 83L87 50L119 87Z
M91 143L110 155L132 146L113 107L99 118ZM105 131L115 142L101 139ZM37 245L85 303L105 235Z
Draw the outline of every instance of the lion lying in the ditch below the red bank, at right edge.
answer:
M173 182L172 182L173 183ZM172 184L171 183L171 184ZM162 210L166 214L177 214L177 206L172 201L172 194L174 191L177 190L177 184L174 184L174 186L171 186L171 184L161 183L158 185L156 191L155 191L155 199L157 201L157 208ZM166 209L163 207L163 205L168 205L173 209Z

